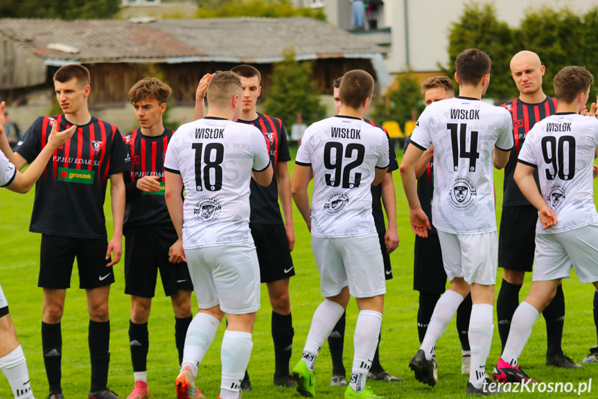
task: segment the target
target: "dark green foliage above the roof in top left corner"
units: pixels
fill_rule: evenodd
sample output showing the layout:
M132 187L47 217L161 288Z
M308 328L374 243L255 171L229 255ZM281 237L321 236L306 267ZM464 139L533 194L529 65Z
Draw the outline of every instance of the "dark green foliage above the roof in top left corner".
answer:
M103 19L114 17L121 0L2 0L3 18Z

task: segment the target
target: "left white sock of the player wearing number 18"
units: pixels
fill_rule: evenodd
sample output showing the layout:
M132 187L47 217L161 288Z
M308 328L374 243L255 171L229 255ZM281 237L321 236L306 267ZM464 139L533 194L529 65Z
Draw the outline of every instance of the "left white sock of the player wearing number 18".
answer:
M204 359L214 337L216 337L219 325L220 321L211 314L195 314L191 324L189 324L187 335L185 337L181 371L183 371L186 366L191 366L193 375L197 376L197 368Z

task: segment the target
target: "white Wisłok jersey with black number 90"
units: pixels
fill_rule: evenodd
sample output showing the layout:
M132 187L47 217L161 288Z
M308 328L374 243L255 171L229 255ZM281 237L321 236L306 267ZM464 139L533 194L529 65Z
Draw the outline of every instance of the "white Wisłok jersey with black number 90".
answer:
M579 114L554 114L529 130L519 162L538 167L540 192L556 214L556 225L537 234L565 232L598 223L592 164L598 120Z

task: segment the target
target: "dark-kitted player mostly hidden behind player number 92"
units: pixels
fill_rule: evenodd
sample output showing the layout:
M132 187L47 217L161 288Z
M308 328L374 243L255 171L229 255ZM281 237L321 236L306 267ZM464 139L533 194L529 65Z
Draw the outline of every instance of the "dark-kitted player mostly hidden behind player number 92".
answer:
M336 78L333 81L333 99L334 108L338 113L340 111L340 97L339 88L342 80ZM382 126L364 119L371 126L376 126L384 131L388 138L389 144L389 166L388 171L382 179L380 185L371 186L371 214L373 221L376 224L376 231L378 232L378 239L380 241L380 252L382 253L382 260L384 260L385 278L392 280L392 266L390 264L390 253L392 253L398 246L398 233L396 231L396 194L394 192L394 182L392 181L392 171L398 169L396 161L396 154L394 146L390 141L388 132ZM382 212L382 205L388 218L388 229L384 222L384 212ZM344 365L342 364L342 353L344 348L344 330L346 326L346 312L344 312L336 325L334 326L330 336L328 337L328 348L330 348L330 355L332 359L332 378L330 381L331 387L342 387L347 384ZM402 378L395 377L387 373L380 364L380 340L382 335L378 337L378 346L376 346L376 354L373 356L371 368L367 375L369 380L381 380L386 382L401 382Z

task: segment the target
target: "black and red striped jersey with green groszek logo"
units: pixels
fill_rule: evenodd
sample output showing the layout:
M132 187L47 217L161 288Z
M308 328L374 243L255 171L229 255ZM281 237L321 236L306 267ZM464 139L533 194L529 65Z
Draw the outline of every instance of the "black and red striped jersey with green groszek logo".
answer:
M48 142L53 123L58 123L59 131L71 126L64 114L39 117L15 151L27 162L35 160ZM92 117L54 151L37 180L29 230L67 237L107 237L103 209L107 180L130 167L118 128Z

